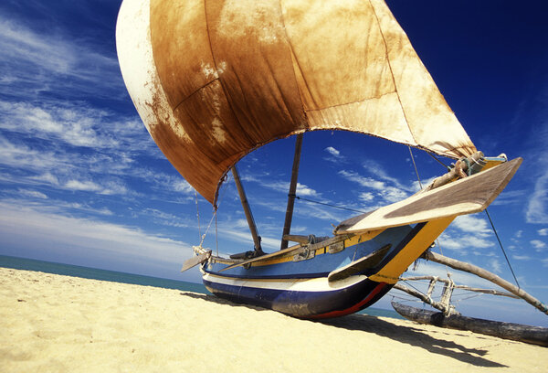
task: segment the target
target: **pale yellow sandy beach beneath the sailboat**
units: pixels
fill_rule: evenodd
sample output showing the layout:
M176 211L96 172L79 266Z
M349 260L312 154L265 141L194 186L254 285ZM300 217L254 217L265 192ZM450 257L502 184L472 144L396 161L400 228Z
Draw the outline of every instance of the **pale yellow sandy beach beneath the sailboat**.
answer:
M544 372L548 349L366 315L0 268L2 372Z

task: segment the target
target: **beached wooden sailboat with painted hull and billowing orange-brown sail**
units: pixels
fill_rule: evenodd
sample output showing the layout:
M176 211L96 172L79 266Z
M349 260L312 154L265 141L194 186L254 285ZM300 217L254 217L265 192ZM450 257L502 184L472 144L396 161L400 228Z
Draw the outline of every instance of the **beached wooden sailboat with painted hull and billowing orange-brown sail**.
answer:
M307 319L360 311L454 218L487 208L522 163L477 151L383 0L124 0L116 38L132 101L171 164L214 209L234 176L254 250L222 256L200 244L183 270L199 265L206 288L237 303ZM455 164L416 195L342 221L332 237L294 235L302 136L321 130ZM236 165L290 136L280 250L265 253Z

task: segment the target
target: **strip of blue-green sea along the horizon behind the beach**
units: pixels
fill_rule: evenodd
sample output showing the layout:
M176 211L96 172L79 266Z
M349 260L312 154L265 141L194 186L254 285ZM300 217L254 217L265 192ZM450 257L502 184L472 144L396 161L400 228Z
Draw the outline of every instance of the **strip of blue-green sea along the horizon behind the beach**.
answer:
M55 263L51 261L37 261L34 259L17 258L5 255L0 255L0 267L62 274L65 276L81 277L92 280L132 283L135 285L153 286L164 289L177 289L193 293L209 293L202 283L169 280L158 277L143 276L141 274L107 271L100 270L98 268L80 267L78 265ZM372 316L392 317L398 319L403 318L399 314L395 313L395 311L373 307L366 308L364 311L359 312L359 314L369 314Z

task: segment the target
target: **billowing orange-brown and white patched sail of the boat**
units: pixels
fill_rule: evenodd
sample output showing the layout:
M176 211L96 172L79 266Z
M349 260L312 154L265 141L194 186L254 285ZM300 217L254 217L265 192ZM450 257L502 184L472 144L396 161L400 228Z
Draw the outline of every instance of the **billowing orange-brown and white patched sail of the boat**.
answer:
M231 165L294 133L476 151L383 0L124 0L117 48L154 141L211 203Z

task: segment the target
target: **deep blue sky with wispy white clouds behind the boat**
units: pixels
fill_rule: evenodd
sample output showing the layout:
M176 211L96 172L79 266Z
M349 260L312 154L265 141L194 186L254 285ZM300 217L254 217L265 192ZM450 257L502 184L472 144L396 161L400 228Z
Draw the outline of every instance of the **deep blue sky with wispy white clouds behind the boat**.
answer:
M547 5L387 3L474 144L486 155L524 158L490 216L520 284L548 303ZM119 6L0 4L0 254L199 282L197 271L179 269L212 208L198 197L196 209L194 190L133 108L116 57ZM265 250L279 248L293 144L269 144L239 165ZM444 172L423 152L413 155L423 182ZM307 133L297 194L367 211L416 191L410 159L406 146L382 139ZM233 183L220 195L205 246L250 250ZM332 224L354 214L300 200L292 232L330 235ZM444 254L512 281L485 214L458 218L439 243ZM423 262L408 274L445 272ZM469 275L454 278L482 285ZM520 301L481 296L457 306L472 316L548 325Z

